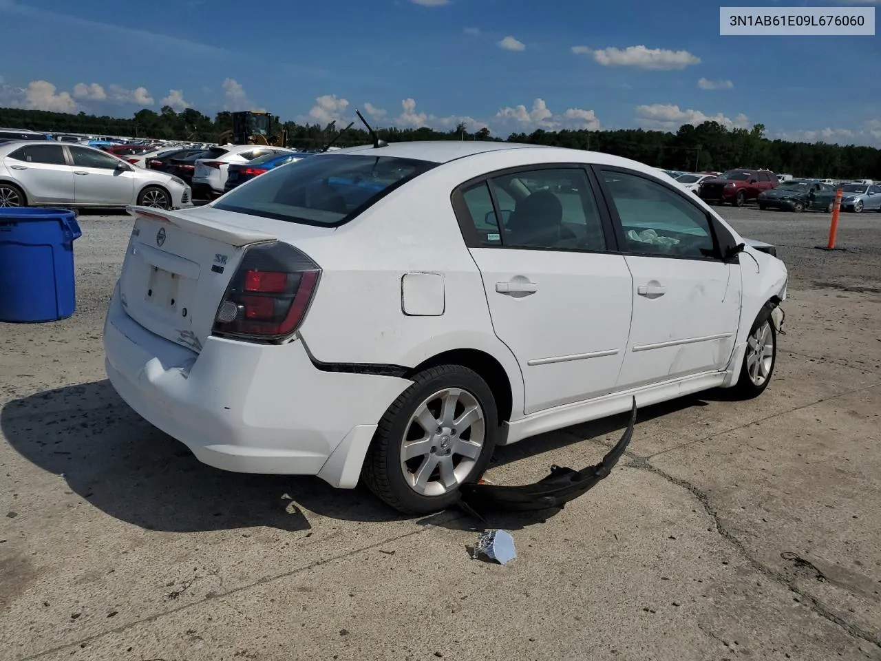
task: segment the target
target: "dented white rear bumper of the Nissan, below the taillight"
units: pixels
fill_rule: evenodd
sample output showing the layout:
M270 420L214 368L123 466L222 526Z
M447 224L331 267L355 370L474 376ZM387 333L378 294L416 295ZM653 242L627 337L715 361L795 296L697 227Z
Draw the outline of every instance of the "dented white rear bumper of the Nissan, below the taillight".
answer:
M358 483L382 414L410 382L322 372L301 341L208 338L201 353L146 331L114 293L104 325L107 377L144 420L225 471Z

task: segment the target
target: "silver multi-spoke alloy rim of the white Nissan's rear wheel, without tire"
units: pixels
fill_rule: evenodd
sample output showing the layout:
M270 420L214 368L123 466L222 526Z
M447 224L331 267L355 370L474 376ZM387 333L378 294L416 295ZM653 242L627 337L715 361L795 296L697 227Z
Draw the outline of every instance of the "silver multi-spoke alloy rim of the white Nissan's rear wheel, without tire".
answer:
M455 491L477 464L485 435L477 397L461 388L438 390L416 407L404 431L404 481L425 496Z

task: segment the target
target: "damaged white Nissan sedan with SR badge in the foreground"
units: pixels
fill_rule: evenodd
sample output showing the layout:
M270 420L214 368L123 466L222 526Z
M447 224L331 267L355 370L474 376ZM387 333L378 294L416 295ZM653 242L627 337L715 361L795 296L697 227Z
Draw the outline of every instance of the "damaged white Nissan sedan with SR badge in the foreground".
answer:
M228 471L434 511L497 445L774 371L774 248L633 160L366 146L130 212L107 375Z

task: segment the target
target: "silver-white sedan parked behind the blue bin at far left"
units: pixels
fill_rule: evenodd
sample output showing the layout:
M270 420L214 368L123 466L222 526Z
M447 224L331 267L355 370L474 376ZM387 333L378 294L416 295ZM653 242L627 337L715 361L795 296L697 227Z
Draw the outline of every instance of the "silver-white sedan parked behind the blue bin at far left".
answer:
M133 167L85 145L48 140L0 144L0 206L192 206L178 177Z

